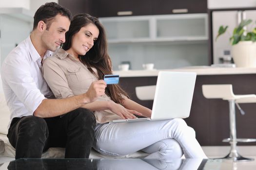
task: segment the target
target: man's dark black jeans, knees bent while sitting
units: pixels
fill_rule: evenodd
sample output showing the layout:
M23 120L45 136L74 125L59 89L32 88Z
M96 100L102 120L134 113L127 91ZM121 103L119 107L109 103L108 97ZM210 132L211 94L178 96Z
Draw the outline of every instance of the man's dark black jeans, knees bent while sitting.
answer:
M95 125L94 114L78 108L54 118L14 118L7 137L16 148L16 159L40 158L51 147L66 148L65 158L88 158Z

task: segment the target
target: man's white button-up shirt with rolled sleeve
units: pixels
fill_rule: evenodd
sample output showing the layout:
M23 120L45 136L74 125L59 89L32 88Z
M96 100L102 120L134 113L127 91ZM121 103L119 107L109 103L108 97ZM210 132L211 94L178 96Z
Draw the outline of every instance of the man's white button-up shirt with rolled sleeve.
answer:
M51 55L52 51L46 51L43 60ZM11 120L33 115L42 100L52 95L42 76L41 68L41 57L30 36L3 61L1 78L5 99L11 111Z

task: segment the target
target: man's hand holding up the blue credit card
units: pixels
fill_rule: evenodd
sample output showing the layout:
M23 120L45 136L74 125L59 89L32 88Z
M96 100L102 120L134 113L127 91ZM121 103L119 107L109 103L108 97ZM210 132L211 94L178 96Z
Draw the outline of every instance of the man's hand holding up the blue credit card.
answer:
M85 103L94 102L99 96L105 94L105 88L107 84L103 80L93 82L85 95Z

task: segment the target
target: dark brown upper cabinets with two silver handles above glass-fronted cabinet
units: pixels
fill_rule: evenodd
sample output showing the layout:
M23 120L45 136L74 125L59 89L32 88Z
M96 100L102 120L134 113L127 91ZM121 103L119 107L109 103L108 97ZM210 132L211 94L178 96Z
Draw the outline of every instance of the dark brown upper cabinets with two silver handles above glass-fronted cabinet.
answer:
M99 17L207 13L207 0L99 0Z

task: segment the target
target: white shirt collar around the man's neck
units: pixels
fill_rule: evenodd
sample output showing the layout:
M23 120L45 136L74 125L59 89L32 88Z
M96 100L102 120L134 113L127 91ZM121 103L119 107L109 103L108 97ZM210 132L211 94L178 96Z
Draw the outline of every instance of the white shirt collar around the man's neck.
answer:
M32 60L34 62L36 62L37 60L41 60L41 56L39 55L38 51L35 49L34 45L32 44L32 41L31 41L31 38L30 38L30 35L27 37L27 39L25 40L26 44L28 45L28 51L29 51L29 54L30 54L30 57L32 58ZM49 51L47 50L44 54L44 57L50 57L53 55L53 51Z

